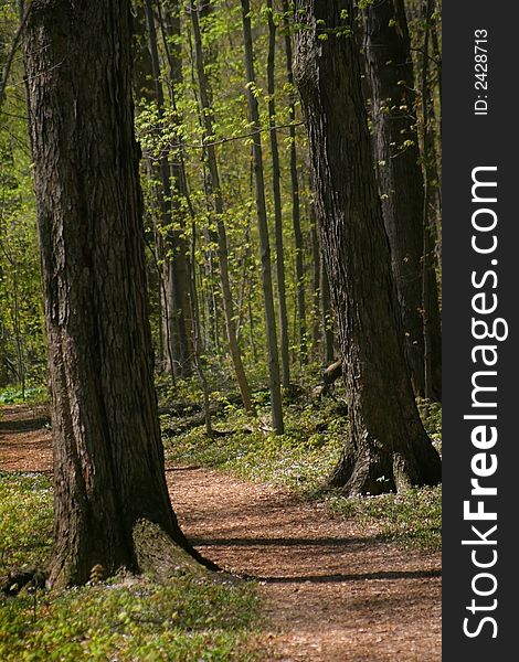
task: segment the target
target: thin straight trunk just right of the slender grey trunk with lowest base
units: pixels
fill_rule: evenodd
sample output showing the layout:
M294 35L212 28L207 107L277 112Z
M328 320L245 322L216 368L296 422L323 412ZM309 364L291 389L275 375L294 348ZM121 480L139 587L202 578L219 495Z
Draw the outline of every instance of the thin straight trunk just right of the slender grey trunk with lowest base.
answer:
M276 269L277 269L277 298L279 306L279 341L282 354L282 383L285 388L290 386L290 360L288 349L288 313L286 307L285 287L285 252L283 247L283 211L280 190L279 147L276 131L276 104L275 94L275 58L276 58L276 23L273 17L273 2L267 0L268 8L268 119L271 124L271 152L272 152L272 188L274 193L274 226L276 231Z

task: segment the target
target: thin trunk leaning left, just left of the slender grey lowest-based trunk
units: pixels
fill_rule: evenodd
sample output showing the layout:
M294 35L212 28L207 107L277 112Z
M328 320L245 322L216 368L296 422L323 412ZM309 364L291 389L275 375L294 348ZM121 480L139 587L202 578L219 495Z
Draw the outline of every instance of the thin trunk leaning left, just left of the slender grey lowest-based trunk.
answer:
M205 76L203 53L202 53L202 35L200 32L198 8L194 6L191 9L191 21L193 25L194 50L197 61L197 74L199 79L200 90L200 116L203 126L203 136L209 138L209 142L213 137L213 120L212 111L209 106L208 79ZM251 398L251 388L248 386L245 369L243 367L242 353L237 344L236 322L234 319L234 305L231 291L231 282L229 278L229 248L225 224L223 222L223 197L220 186L220 173L218 169L216 153L214 145L211 142L205 148L209 169L209 202L212 205L213 216L216 224L216 236L213 237L218 244L218 256L220 266L220 282L222 287L223 310L225 314L225 324L227 330L229 348L233 360L236 381L242 394L243 406L246 412L254 414L254 406Z

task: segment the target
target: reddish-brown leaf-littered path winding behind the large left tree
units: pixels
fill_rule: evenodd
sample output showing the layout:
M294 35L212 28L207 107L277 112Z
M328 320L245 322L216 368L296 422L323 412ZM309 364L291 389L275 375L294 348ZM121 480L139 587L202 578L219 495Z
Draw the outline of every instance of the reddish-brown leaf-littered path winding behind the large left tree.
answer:
M44 410L2 408L0 469L51 471ZM389 543L377 525L202 467L168 467L179 521L202 554L257 579L266 660L441 660L441 554Z

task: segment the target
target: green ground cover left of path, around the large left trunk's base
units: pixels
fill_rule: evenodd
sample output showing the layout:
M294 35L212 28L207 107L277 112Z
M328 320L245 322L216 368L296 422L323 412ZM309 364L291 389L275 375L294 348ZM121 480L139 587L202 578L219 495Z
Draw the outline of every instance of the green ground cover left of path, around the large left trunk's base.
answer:
M41 566L52 537L51 482L0 474L1 572ZM258 601L252 583L179 574L166 584L106 584L0 598L0 660L254 660Z

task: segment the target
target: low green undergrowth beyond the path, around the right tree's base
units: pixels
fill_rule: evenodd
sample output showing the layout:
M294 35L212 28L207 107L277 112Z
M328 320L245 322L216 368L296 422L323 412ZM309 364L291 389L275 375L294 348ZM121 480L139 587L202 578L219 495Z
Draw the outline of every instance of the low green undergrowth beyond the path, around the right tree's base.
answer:
M268 409L260 403L258 420L229 405L214 419L218 435L210 439L203 426L165 439L167 458L179 465L201 465L230 471L240 478L271 482L297 491L303 498L324 500L330 516L375 524L381 535L402 545L438 551L442 546L442 488L410 490L401 494L346 498L322 494L322 484L336 465L348 429L348 417L337 399L285 406L284 435L266 429ZM442 408L419 406L425 429L441 451ZM168 425L168 417L162 420Z

